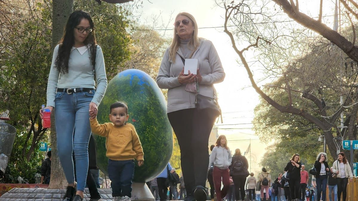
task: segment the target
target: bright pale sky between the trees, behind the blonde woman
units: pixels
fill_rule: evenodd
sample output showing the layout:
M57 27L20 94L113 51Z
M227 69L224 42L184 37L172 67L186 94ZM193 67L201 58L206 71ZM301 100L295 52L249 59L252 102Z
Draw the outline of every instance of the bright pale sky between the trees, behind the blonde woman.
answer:
M174 28L173 23L176 14L185 11L194 16L199 28L218 27L224 24L223 16L225 10L216 6L214 0L150 0L150 2L143 0L143 14L140 23L151 22L152 15L160 15L160 20L163 19L167 23L171 13L173 13L171 16L173 19L168 27L172 29ZM318 12L316 11L318 4L319 0L315 0L313 3L310 0L308 7L305 3L301 3L300 6L301 9L315 8L314 10L305 10L307 11L305 13L310 16L317 16L314 13ZM327 10L331 10L333 0L329 0L329 5L325 6L327 6ZM163 31L159 31L159 33L164 34ZM165 34L170 38L173 37L172 30L166 31ZM228 146L232 150L240 148L242 152L247 149L251 139L251 151L256 156L257 162L260 162L267 144L263 144L258 140L258 137L251 130L253 124L250 124L254 117L253 109L259 103L259 95L250 87L250 80L245 68L236 62L238 56L232 48L228 35L223 33L223 28L199 29L198 35L213 42L226 73L224 82L215 85L218 92L219 104L223 112L223 124L240 124L218 126L223 128L219 129L219 134L227 136L229 141ZM252 70L254 74L255 70L256 74L258 74L257 69L253 67ZM262 84L260 83L260 85Z

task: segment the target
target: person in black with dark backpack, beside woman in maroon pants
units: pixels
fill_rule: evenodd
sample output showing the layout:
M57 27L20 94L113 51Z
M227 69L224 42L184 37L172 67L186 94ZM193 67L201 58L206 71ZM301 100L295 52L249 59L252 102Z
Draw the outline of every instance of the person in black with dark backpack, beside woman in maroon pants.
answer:
M245 182L246 177L250 175L247 168L248 162L246 157L241 155L240 149L235 149L229 170L230 176L232 176L232 180L234 181L235 197L239 198L241 193L241 200L245 200Z

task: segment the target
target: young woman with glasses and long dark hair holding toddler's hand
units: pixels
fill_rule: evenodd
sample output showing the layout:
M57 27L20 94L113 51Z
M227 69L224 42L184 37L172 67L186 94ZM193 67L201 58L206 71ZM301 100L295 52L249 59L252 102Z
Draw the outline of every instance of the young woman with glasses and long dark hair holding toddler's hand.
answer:
M60 44L54 48L47 85L46 108L52 111L56 107L57 152L68 182L64 200L83 200L91 136L89 117L97 111L106 88L105 62L102 49L96 45L91 16L74 11Z

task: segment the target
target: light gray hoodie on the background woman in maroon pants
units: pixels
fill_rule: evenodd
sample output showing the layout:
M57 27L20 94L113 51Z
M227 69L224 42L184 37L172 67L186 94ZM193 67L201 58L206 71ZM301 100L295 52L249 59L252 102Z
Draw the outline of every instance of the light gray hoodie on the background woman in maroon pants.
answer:
M216 146L209 157L209 168L211 165L214 165L220 169L226 169L231 165L231 159L232 156L229 148Z

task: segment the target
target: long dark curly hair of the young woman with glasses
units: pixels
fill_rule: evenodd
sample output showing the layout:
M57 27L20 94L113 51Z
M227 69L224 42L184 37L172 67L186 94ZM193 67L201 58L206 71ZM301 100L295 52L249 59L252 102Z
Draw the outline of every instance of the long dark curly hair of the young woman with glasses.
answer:
M84 45L91 44L89 59L91 59L91 63L93 67L95 66L96 57L93 54L94 51L97 51L95 31L94 31L95 25L92 21L91 16L88 13L82 10L76 10L69 16L66 23L66 27L63 31L62 39L59 42L60 46L55 61L55 68L58 68L61 71L61 73L64 74L68 73L68 59L71 53L71 48L74 45L73 30L81 22L82 19L87 19L89 21L89 25L92 28L92 32L90 32L87 35L87 38L83 41L83 43Z

